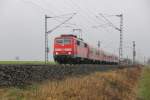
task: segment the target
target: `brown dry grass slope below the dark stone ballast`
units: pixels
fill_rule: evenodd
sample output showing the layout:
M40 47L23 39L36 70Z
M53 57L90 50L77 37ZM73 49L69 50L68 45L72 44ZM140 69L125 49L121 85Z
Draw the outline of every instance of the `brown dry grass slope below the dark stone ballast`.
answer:
M0 100L135 100L140 68L96 72L25 89L0 90Z

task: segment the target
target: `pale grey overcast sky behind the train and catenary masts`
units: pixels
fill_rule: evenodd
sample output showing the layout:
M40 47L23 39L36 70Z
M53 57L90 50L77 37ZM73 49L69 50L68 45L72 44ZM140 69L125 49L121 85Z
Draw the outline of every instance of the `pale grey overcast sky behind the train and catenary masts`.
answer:
M68 23L75 25L65 24L49 34L50 60L54 38L71 34L73 28L81 28L83 39L89 44L96 46L100 40L104 50L118 54L119 32L108 25L93 28L106 24L99 13L117 27L119 18L107 15L124 14L124 57L132 57L133 40L137 44L137 58L150 57L149 0L0 0L0 60L14 60L16 56L21 60L44 60L44 15L74 12L77 15ZM49 19L48 29L68 17Z

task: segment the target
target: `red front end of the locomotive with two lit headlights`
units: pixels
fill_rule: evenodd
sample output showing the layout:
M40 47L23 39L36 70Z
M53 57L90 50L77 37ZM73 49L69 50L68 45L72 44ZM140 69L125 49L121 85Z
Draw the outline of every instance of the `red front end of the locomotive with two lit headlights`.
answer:
M54 40L54 60L59 63L71 61L75 54L74 35L61 35Z

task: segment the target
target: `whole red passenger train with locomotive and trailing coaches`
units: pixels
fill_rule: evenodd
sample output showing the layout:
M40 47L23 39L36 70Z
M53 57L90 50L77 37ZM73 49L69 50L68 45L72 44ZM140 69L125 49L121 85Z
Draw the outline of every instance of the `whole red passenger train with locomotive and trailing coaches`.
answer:
M60 64L118 64L118 57L93 48L75 35L54 40L54 60Z

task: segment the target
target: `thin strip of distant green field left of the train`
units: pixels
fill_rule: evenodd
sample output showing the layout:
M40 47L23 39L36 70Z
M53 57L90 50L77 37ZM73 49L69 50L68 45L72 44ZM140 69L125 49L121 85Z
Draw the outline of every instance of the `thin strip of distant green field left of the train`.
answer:
M45 64L44 61L0 61L0 64ZM48 64L56 64L55 62L48 62Z

